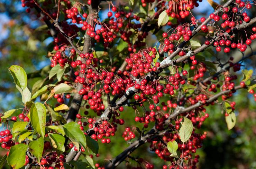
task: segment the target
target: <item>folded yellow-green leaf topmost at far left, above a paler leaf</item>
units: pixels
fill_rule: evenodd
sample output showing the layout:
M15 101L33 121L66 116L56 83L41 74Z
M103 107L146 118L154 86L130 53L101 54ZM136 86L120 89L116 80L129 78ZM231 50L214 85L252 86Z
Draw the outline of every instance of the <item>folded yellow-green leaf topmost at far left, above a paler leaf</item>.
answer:
M18 65L9 67L9 71L13 77L14 82L24 90L27 87L28 78L24 69Z

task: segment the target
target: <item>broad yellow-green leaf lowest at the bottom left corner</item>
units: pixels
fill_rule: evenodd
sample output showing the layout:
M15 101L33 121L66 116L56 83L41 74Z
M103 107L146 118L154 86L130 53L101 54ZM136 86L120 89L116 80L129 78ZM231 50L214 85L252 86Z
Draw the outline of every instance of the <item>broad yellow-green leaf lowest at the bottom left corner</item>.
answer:
M28 145L25 144L17 144L11 147L7 162L13 169L19 169L24 166L27 149Z

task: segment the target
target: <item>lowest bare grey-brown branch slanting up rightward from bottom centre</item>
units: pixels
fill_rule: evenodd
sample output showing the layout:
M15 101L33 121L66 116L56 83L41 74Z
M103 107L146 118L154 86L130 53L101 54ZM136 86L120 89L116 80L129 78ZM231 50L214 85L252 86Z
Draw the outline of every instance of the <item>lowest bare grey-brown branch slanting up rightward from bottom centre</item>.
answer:
M236 86L234 90L241 89L241 86ZM218 97L228 94L229 92L232 92L231 90L226 90L219 92L218 94L210 97L206 103L214 102ZM178 115L182 113L188 113L189 111L198 108L202 106L203 104L198 102L194 105L191 105L189 107L183 108L183 107L177 107L174 112L165 120L165 124L170 124L170 119L176 118ZM127 147L123 152L121 152L117 157L110 160L110 162L105 166L105 169L113 169L116 168L122 161L124 161L133 151L135 151L138 147L148 142L148 140L152 140L153 138L161 135L161 133L165 133L163 131L158 131L155 126L149 130L145 135L134 141L129 147Z

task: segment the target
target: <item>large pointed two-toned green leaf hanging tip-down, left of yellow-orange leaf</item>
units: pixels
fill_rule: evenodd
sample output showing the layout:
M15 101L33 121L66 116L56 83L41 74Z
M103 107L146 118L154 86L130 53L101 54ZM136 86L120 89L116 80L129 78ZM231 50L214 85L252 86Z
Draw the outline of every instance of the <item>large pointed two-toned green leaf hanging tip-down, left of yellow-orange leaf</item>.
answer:
M42 137L45 135L46 108L42 103L36 102L30 108L29 119L35 131Z

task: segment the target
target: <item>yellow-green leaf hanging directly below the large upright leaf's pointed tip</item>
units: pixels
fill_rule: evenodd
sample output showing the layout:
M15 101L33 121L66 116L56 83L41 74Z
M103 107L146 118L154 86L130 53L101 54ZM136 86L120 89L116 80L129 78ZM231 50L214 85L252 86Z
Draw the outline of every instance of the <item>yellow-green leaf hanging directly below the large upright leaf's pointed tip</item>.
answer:
M29 147L29 152L31 152L31 154L33 154L36 157L37 162L40 162L43 155L43 151L44 151L43 137L39 137L37 140L31 141L28 144L28 147Z

